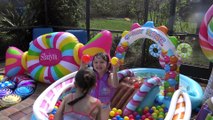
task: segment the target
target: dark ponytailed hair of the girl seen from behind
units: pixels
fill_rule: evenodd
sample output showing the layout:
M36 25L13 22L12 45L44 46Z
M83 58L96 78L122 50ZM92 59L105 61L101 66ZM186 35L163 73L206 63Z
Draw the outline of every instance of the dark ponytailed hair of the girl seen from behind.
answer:
M81 99L83 99L87 93L92 89L96 84L96 75L91 69L80 69L75 75L75 84L81 88L83 95L79 98L74 99L69 102L69 105L74 105Z

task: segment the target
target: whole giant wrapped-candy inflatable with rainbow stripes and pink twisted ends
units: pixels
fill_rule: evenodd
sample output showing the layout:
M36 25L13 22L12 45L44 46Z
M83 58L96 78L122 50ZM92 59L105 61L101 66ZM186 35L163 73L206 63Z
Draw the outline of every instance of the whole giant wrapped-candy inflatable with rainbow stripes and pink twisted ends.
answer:
M94 56L98 52L109 54L111 46L112 35L107 30L98 33L86 45L68 32L44 34L33 40L25 53L15 47L8 48L5 74L12 77L27 70L33 79L53 83L77 71L83 55Z

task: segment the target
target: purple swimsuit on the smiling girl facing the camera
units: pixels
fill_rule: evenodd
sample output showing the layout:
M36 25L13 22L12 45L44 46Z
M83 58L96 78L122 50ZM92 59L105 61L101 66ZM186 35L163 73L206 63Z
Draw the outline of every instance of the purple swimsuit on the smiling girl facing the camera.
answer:
M97 84L90 94L91 96L98 98L104 104L110 103L110 100L114 96L116 90L116 88L108 85L109 75L110 73L107 72L101 79L98 79L98 74L96 73Z

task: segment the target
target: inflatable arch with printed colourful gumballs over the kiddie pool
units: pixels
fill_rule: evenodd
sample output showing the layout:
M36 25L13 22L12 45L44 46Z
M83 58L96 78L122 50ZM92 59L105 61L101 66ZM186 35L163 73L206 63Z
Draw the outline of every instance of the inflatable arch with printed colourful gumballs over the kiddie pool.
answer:
M167 78L166 80L173 77L172 78L174 81L173 83L175 83L175 85L171 86L170 84L168 84L167 81L167 88L172 87L175 90L177 90L179 85L178 84L179 78L176 76L179 75L179 67L181 64L181 59L176 51L176 46L172 43L172 41L167 37L167 35L164 32L154 27L154 23L152 21L148 21L142 27L138 27L136 29L129 31L128 34L122 37L116 48L115 57L119 59L120 64L123 64L124 57L126 55L126 51L128 50L129 45L131 45L134 41L138 39L144 40L143 38L152 40L161 49L159 62L163 68L165 67L165 65L172 66L172 68L175 68L173 69L173 71L167 71L168 75L165 77ZM170 58L173 56L177 58L176 63L172 63L170 61ZM170 76L169 74L171 73L172 75ZM164 89L165 90L164 95L166 97L171 97L172 93L171 92L169 93L167 88Z

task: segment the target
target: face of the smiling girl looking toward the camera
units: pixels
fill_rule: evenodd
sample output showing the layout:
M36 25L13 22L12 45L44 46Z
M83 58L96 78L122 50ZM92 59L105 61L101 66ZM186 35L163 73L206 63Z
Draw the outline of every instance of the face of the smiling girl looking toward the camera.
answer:
M106 72L109 64L100 56L96 56L93 60L93 69L97 72Z

